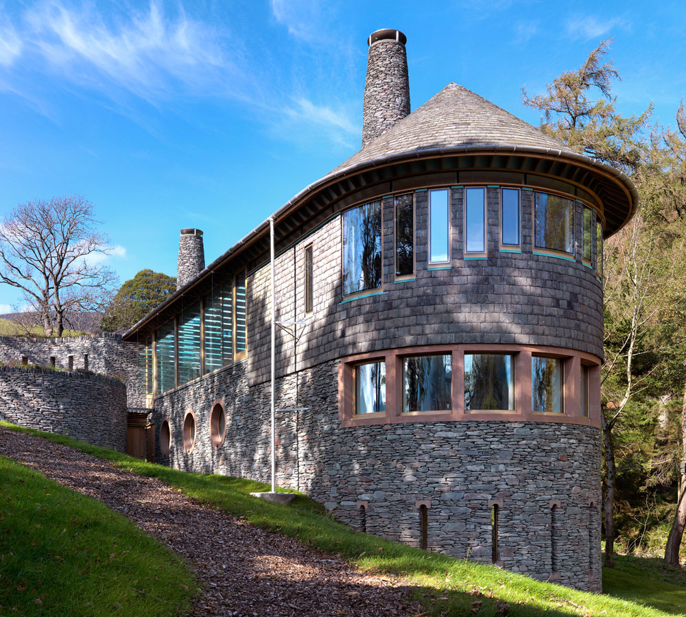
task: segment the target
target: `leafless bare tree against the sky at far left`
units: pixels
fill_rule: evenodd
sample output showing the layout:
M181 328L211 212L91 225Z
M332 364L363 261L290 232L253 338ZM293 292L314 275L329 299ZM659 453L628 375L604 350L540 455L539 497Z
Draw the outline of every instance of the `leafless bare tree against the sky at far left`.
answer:
M97 311L111 297L115 274L93 205L69 195L20 204L0 226L0 282L21 289L46 336L62 336L69 311Z

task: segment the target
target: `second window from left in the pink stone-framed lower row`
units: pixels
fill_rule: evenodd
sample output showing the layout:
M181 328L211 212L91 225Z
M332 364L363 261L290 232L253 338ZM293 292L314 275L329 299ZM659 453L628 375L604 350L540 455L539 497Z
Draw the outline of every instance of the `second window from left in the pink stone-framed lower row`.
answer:
M403 358L403 413L451 409L451 355Z

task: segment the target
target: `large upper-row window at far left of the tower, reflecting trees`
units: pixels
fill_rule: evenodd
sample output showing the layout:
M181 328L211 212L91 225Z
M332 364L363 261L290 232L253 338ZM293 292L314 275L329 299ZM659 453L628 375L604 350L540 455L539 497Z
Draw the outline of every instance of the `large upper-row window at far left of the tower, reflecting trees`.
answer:
M346 210L343 224L343 295L381 287L381 202Z

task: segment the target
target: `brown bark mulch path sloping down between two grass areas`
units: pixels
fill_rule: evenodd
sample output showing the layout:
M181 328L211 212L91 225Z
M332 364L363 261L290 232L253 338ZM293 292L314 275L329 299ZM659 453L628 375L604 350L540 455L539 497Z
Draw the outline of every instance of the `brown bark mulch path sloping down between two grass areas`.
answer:
M300 542L200 505L156 478L0 427L0 455L128 516L187 559L202 593L192 614L412 616L402 579L359 572Z

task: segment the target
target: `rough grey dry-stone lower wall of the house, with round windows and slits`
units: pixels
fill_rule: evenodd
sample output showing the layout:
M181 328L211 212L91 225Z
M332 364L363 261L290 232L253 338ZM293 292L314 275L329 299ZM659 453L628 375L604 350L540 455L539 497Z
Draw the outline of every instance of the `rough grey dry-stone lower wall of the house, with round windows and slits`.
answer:
M249 387L237 363L156 399L153 421L171 420L172 447L158 461L182 470L270 479L269 389ZM209 433L213 402L226 405L226 440ZM369 533L418 546L417 500L430 502L428 548L490 563L489 501L500 499L504 568L600 591L600 431L533 422L417 422L341 428L338 363L276 382L276 482L324 503L359 527L368 501ZM181 425L196 413L196 446L183 449ZM551 501L560 503L552 528ZM593 507L589 505L593 503ZM552 531L556 542L552 544ZM556 554L553 554L553 548Z

